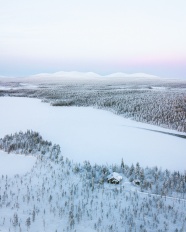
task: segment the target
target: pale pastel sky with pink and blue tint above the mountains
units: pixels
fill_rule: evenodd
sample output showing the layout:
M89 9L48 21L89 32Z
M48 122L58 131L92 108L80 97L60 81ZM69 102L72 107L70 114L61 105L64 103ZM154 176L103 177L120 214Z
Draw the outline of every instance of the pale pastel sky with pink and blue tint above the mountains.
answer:
M0 75L186 78L185 0L0 0Z

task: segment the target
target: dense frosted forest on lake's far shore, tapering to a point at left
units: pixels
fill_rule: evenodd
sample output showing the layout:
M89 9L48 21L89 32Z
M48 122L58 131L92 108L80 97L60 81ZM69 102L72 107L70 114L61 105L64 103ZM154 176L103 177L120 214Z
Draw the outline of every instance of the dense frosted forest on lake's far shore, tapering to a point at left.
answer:
M186 93L177 91L121 90L63 95L53 106L96 106L119 115L186 132ZM65 99L66 98L66 99Z

